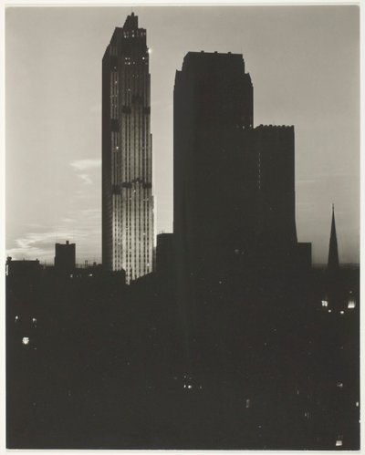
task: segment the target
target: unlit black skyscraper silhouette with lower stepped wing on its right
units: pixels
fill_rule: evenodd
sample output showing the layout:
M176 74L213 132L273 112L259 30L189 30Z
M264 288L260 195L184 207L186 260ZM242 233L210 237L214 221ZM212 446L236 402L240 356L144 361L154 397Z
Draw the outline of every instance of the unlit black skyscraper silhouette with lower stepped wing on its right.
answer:
M239 270L291 266L299 254L294 128L254 128L253 119L253 86L241 55L186 55L174 88L181 289L223 283Z

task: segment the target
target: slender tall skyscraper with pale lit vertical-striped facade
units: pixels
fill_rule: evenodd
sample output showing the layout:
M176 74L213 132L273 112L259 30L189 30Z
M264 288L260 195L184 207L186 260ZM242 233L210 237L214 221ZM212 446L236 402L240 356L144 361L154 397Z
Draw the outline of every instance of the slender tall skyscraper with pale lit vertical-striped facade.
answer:
M102 60L102 262L130 283L152 271L151 76L131 13Z

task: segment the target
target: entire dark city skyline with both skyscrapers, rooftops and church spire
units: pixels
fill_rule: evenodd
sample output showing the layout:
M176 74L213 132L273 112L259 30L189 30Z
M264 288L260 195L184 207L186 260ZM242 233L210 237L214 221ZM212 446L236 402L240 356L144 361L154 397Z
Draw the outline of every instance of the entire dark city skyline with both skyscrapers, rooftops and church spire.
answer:
M359 266L297 240L295 131L254 126L239 54L173 93L173 233L153 251L150 74L131 14L103 57L103 264L6 260L11 449L358 450ZM155 257L153 257L155 256Z

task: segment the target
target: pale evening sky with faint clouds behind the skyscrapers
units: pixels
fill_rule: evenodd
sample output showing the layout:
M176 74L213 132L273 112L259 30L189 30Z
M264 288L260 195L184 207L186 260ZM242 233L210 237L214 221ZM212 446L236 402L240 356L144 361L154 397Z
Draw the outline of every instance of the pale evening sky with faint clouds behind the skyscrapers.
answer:
M5 9L5 253L101 261L101 58L134 11L151 48L155 231L172 232L172 94L189 51L242 53L254 124L294 125L297 238L325 264L335 204L342 264L360 256L359 7Z

